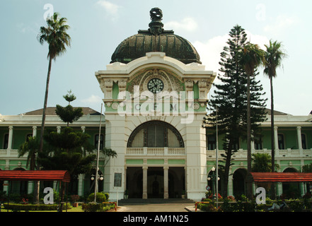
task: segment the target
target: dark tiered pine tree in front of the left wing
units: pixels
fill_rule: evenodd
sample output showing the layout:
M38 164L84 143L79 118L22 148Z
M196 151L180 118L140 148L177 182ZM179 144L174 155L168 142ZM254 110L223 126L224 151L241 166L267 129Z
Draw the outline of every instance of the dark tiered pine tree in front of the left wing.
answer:
M82 131L75 131L69 127L69 123L78 120L82 116L82 109L71 107L70 102L76 97L69 91L64 96L69 102L67 107L57 105L56 113L67 123L60 132L49 131L44 138L50 148L45 149L42 153L38 153L37 161L44 169L50 170L67 170L74 179L78 174L85 174L91 171L92 162L96 159L95 154L84 155L84 151L91 153L94 145L89 142L90 135ZM69 107L70 106L70 107ZM78 110L77 110L78 109ZM61 201L64 200L65 186L62 184ZM62 205L60 208L62 211Z

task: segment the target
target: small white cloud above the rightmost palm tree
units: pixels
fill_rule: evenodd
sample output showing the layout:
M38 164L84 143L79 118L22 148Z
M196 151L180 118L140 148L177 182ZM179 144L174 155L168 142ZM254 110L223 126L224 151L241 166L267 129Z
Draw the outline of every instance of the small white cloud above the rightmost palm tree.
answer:
M265 25L263 30L272 35L282 35L297 23L299 23L299 18L296 16L279 15L274 21L271 21L270 24Z

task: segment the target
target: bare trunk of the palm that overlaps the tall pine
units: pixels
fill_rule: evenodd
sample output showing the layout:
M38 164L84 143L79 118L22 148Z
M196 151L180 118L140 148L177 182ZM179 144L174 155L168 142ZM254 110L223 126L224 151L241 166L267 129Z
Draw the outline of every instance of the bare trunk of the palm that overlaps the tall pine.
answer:
M247 171L251 172L251 122L250 122L250 75L247 73ZM252 184L247 182L247 198L252 198Z

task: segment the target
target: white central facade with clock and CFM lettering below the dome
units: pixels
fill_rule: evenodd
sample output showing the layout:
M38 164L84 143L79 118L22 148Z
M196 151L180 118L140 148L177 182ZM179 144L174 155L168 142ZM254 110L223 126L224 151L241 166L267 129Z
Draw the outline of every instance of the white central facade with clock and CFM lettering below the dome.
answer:
M163 189L159 192L163 194L163 198L169 198L168 194L173 192L170 191L171 188L168 185L168 170L172 167L185 169L183 190L187 192L188 198L200 200L204 197L207 186L207 155L206 132L202 128L202 119L206 114L207 93L215 76L216 73L205 71L204 66L200 64L185 65L176 59L166 57L163 52L147 53L146 57L135 59L128 64L116 62L108 65L106 71L96 73L96 78L98 78L100 88L104 93L103 102L106 109L105 146L117 152L117 158L113 158L105 169L104 188L110 193L112 199L117 198L117 189L120 192L118 196L123 196L127 183L131 183L127 182L129 167L141 167L143 172L141 198L149 198L148 184L151 182L148 179L148 172L151 167L163 169L163 174L161 173L163 182L159 187L159 189ZM167 100L167 102L163 100L165 104L171 104L171 111L165 112L165 107L161 110L156 107L155 110L149 110L147 113L139 110L138 106L155 106L156 99L154 102L146 101L146 99L130 99L128 101L131 103L127 105L129 111L122 114L118 107L125 98L118 98L117 94L128 91L134 95L134 85L137 85L141 95L147 90L146 83L154 77L163 81L163 92L177 91L178 94L181 94L183 91L189 91L195 96L197 95L197 98L195 100L193 98L179 99L178 103L173 100ZM194 88L194 84L198 89ZM156 95L154 96L156 98ZM157 106L164 106L163 102ZM190 107L185 107L184 103ZM183 111L183 107L185 111ZM178 110L174 112L175 109ZM144 113L148 115L144 115ZM185 119L189 121L183 121ZM183 147L128 147L127 143L134 129L147 121L163 121L173 126L183 139ZM113 175L115 172L122 172L121 188L114 187ZM180 189L178 190L180 191Z

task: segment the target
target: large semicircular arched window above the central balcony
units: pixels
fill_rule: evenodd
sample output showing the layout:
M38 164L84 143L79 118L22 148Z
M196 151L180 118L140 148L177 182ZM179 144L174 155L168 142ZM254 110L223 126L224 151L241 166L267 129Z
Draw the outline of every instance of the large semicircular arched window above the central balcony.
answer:
M179 131L164 121L148 121L134 129L128 148L184 148Z

